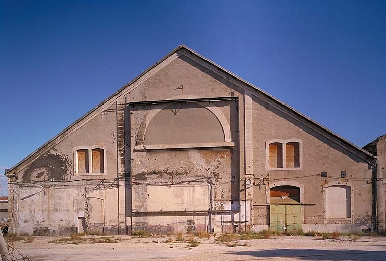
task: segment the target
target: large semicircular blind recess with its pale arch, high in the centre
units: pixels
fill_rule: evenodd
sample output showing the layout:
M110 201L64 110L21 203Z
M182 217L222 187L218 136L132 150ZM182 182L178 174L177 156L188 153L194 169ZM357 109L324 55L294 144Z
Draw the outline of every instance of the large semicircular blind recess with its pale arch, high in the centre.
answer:
M216 106L173 103L151 110L138 131L137 146L230 142L230 125Z

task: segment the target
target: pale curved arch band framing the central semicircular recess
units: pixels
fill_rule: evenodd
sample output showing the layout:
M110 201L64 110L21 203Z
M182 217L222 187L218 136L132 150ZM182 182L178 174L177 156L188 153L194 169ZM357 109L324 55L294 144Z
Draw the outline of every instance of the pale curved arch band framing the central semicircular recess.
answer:
M183 95L183 96L171 97L171 99L194 99L194 98L200 98L200 97L193 96L193 95ZM198 105L201 105L203 108L205 108L205 109L209 110L210 112L212 112L212 114L220 122L220 125L222 127L222 131L223 131L224 137L225 137L224 141L225 142L230 142L231 141L230 125L229 125L228 120L225 118L225 115L221 112L221 110L219 108L217 108L216 106L205 106L203 104L203 102L194 102L194 103L197 103ZM146 114L146 116L142 120L141 125L140 125L140 127L138 129L136 145L143 145L143 140L144 140L144 137L145 137L145 132L146 132L147 125L149 124L151 119L154 116L156 116L157 113L159 113L161 110L163 110L165 107L167 107L169 105L170 104L159 105L159 107L157 109L150 110Z

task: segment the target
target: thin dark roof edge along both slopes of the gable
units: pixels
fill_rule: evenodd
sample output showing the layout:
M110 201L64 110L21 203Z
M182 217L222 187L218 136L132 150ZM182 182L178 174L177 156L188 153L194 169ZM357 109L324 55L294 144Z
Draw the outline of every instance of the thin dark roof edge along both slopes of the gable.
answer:
M60 132L58 135L56 135L55 137L53 137L52 139L48 140L46 143L44 143L42 146L40 146L39 148L37 148L35 151L33 151L32 153L30 153L28 156L26 156L23 160L21 160L20 162L18 162L17 164L15 164L12 168L10 169L7 169L6 170L6 173L5 175L11 175L15 172L15 170L20 167L21 165L24 165L26 163L29 162L29 160L39 154L40 151L42 151L44 148L52 145L55 141L58 141L62 138L63 135L65 135L72 127L74 127L76 124L78 124L80 121L86 119L87 117L90 117L90 115L96 111L98 108L104 106L107 102L109 102L111 99L113 99L114 97L116 97L117 95L119 95L120 93L122 93L123 90L125 90L127 87L131 86L132 84L134 84L136 81L138 81L142 76L144 76L147 72L151 71L153 68L157 67L161 62L165 61L166 59L168 59L170 56L172 56L174 53L177 53L179 51L187 51L188 53L190 53L191 55L193 56L196 56L198 57L199 59L202 59L204 62L210 64L211 66L213 66L215 69L221 71L222 73L225 73L226 75L228 75L229 79L233 79L241 84L244 85L244 87L246 88L249 88L251 89L251 91L254 91L255 93L259 93L263 96L265 96L266 98L274 101L275 103L277 103L277 105L279 106L282 106L284 107L285 109L288 109L289 111L291 111L292 113L294 113L296 116L300 117L301 119L303 119L304 121L306 122L309 122L311 124L313 124L315 127L317 127L318 129L324 131L325 133L327 133L328 135L330 135L331 137L335 138L336 139L336 143L338 143L339 145L344 145L346 148L351 148L351 152L356 152L355 154L361 156L361 158L363 158L364 160L368 160L368 159L365 159L366 157L370 157L372 158L373 155L371 153L369 153L368 151L366 151L365 149L362 149L358 146L356 146L355 144L351 143L350 141L344 139L343 137L339 136L338 134L330 131L330 129L324 127L323 125L319 124L318 122L314 121L313 119L307 117L306 115L302 114L301 112L297 111L296 109L292 108L291 106L287 105L287 103L277 99L276 97L272 96L271 94L267 93L266 91L260 89L259 87L249 83L248 81L242 79L241 77L237 76L236 74L228 71L227 69L221 67L220 65L216 64L215 62L211 61L210 59L198 54L196 51L190 49L189 47L185 46L184 44L181 44L179 45L178 47L176 47L175 49L173 49L172 51L170 51L170 53L168 53L166 56L164 56L162 59L160 59L158 62L156 62L155 64L151 65L149 68L147 68L145 71L143 71L141 74L139 74L137 77L135 77L132 81L128 82L126 85L124 85L123 87L121 87L118 91L116 91L115 93L113 93L112 95L110 95L107 99L103 100L102 102L100 102L96 107L92 108L90 111L88 111L85 115L83 115L82 117L80 117L78 120L74 121L71 125L69 125L68 127L66 127L65 129L63 129L62 132ZM229 80L228 79L228 80ZM365 155L365 158L362 156L362 155ZM369 162L371 163L371 162Z

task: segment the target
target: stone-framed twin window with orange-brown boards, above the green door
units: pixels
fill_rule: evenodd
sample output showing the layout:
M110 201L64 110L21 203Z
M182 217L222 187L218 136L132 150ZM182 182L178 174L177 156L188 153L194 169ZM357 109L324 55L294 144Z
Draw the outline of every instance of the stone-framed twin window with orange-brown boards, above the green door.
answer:
M270 140L266 142L267 170L302 169L302 140Z

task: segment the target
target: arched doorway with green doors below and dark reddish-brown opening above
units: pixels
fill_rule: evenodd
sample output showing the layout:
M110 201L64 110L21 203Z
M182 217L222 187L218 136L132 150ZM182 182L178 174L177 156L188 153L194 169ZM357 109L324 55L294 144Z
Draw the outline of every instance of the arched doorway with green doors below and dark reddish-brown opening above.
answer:
M300 188L276 186L269 190L269 228L281 233L301 230Z

